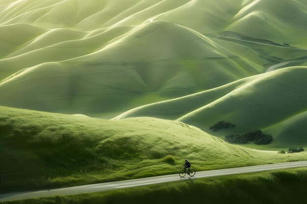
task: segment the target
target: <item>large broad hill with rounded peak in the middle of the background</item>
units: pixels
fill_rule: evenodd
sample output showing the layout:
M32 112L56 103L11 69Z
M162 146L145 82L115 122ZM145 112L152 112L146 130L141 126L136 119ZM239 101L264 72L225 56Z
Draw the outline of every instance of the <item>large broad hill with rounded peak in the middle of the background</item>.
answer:
M101 37L106 36L90 37L84 45L94 45ZM63 54L56 52L61 46L64 44L3 59L0 65L13 73L21 66L57 61L95 48L68 46ZM238 48L237 52L246 51ZM258 62L240 53L176 23L146 23L88 55L43 63L3 79L0 94L6 97L0 104L111 118L137 106L219 87L264 71Z

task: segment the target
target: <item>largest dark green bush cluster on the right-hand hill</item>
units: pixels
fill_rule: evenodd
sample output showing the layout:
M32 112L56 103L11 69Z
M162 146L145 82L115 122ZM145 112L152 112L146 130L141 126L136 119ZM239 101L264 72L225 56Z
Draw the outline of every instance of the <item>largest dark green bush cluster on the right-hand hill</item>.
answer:
M273 141L273 136L262 133L261 130L255 130L244 134L226 136L225 139L230 143L246 144L254 141L255 144L269 144Z

